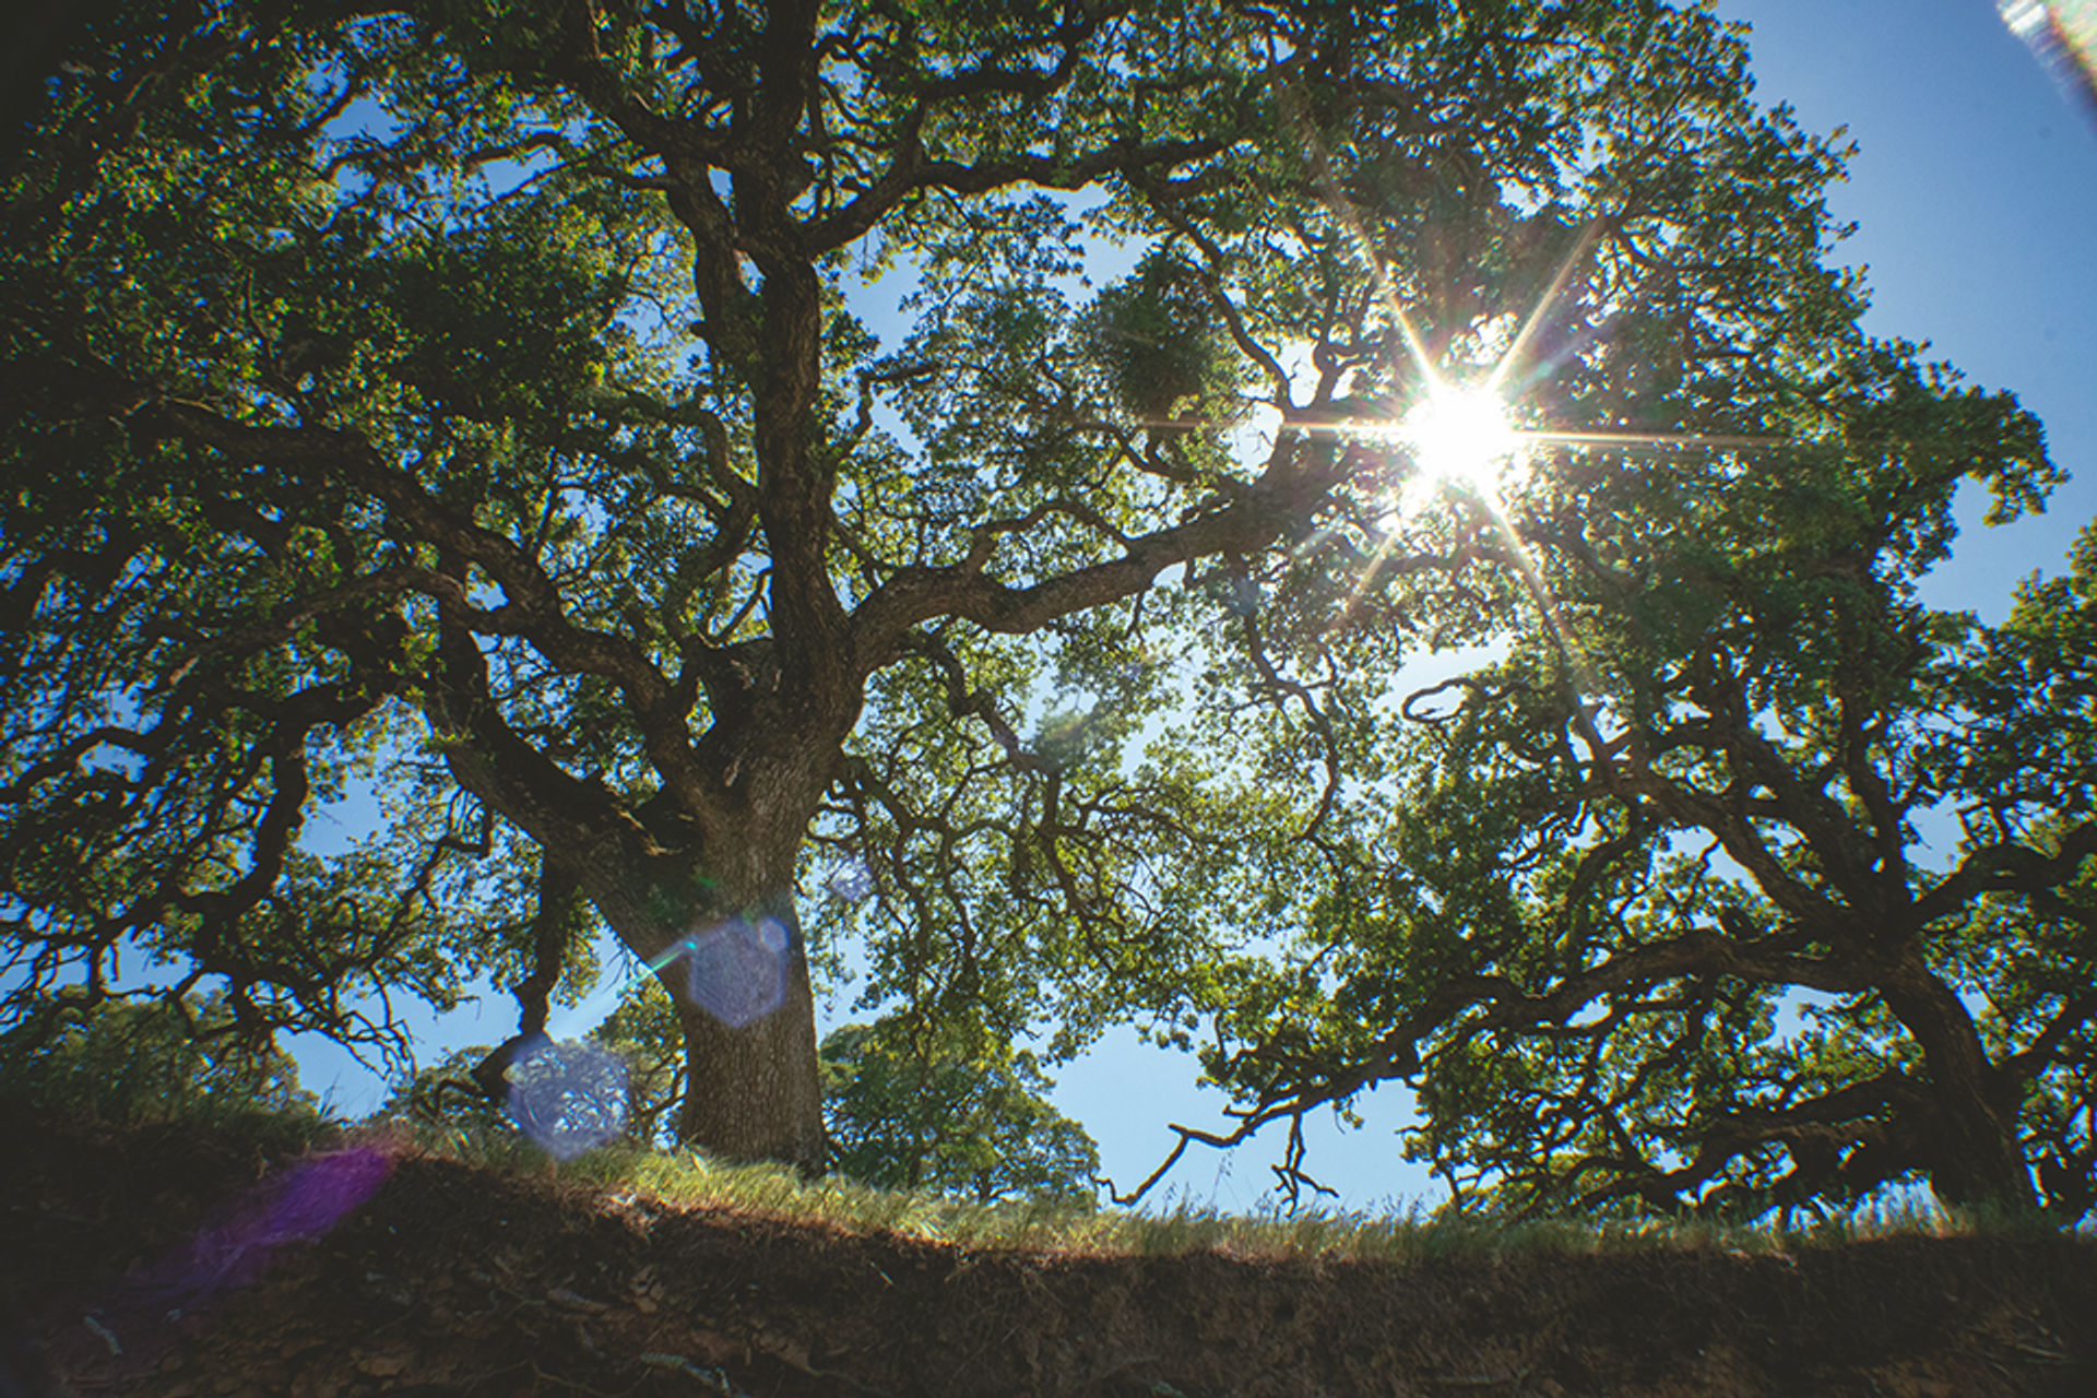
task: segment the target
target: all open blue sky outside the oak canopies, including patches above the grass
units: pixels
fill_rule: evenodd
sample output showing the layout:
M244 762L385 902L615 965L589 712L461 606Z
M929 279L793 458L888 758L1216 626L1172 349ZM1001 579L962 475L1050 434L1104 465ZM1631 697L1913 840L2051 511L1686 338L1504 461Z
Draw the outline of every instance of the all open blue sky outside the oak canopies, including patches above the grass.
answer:
M1984 528L1984 501L1961 501L1954 562L1929 581L1927 599L2001 618L2015 585L2032 570L2057 570L2097 516L2097 128L2009 34L1992 0L1722 0L1717 8L1753 25L1759 101L1791 103L1814 132L1847 126L1860 145L1831 203L1858 224L1837 256L1866 268L1866 327L1929 342L1931 358L1971 381L2017 392L2074 476L2047 516L2011 528ZM606 1008L556 1014L554 1031L587 1031ZM514 1004L493 996L432 1025L421 1058L497 1042L514 1025ZM344 1109L377 1102L377 1079L340 1050L298 1052L306 1084ZM1126 1186L1164 1159L1168 1121L1223 1123L1220 1094L1193 1079L1191 1056L1118 1031L1061 1069L1055 1100L1093 1132L1107 1174ZM1359 1107L1361 1130L1325 1115L1309 1132L1309 1167L1338 1191L1336 1203L1436 1199L1426 1172L1399 1161L1403 1090L1384 1088ZM1277 1126L1231 1155L1189 1151L1166 1186L1225 1209L1258 1207L1281 1144Z

